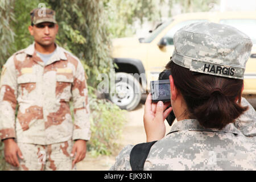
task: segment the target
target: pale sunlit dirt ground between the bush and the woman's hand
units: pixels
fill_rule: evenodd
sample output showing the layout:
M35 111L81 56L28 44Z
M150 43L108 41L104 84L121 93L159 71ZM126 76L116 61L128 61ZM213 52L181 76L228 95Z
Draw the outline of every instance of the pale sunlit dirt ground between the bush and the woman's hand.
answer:
M146 142L146 134L143 127L143 114L144 114L144 98L137 108L133 111L127 112L127 123L123 128L123 134L118 139L119 148L110 156L99 156L93 158L89 152L81 162L77 163L77 170L81 171L105 171L115 163L115 157L127 144L138 144ZM170 126L166 122L166 131L170 131Z

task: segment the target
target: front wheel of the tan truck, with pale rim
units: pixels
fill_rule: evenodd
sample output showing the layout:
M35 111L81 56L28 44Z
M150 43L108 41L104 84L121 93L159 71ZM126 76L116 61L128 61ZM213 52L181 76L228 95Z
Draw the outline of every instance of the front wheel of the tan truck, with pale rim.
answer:
M121 109L133 110L141 101L141 84L128 73L115 73L114 93L109 93L108 98Z

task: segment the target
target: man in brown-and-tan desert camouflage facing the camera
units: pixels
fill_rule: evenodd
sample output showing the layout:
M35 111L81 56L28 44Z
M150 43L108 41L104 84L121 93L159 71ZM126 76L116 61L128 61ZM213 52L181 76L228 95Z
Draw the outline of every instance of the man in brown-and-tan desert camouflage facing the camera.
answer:
M35 42L14 53L1 75L5 159L12 169L71 170L85 158L90 139L84 68L77 57L55 44L58 25L53 10L32 10L29 30Z

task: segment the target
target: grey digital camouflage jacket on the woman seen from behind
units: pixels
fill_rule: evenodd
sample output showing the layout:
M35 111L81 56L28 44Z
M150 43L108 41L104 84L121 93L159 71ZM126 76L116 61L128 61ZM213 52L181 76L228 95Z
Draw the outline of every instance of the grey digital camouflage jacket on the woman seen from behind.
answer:
M144 170L256 170L256 113L249 106L235 123L222 130L205 129L196 119L175 122L170 133L150 149ZM130 171L128 145L110 170Z

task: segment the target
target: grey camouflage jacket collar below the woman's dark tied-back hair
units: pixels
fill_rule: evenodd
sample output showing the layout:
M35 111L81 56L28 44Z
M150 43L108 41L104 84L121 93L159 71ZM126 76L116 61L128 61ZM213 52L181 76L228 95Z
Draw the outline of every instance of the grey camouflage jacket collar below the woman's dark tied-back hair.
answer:
M236 127L234 127L233 123L229 123L223 129L206 129L201 126L200 123L196 119L184 119L182 121L178 121L174 123L171 127L171 131L168 133L173 133L175 131L181 130L189 130L189 131L212 131L212 132L225 132L225 133L233 133L233 134L242 134ZM167 135L168 135L167 134Z

